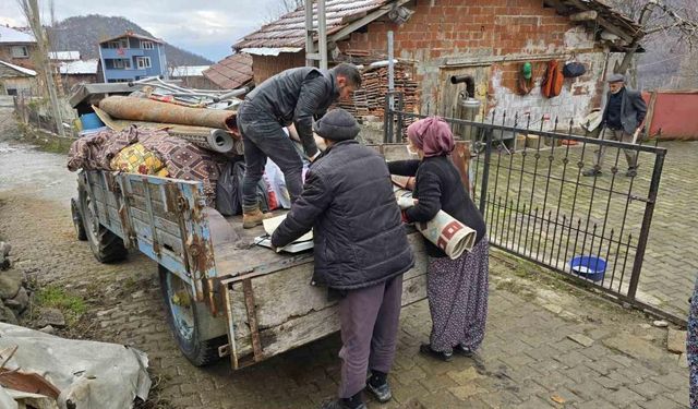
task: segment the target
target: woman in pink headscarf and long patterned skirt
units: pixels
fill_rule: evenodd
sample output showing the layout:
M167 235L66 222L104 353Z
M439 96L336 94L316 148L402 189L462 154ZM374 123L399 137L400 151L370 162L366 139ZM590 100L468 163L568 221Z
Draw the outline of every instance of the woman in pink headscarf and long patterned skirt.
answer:
M408 151L419 160L388 164L390 173L416 177L414 205L404 208L409 221L429 221L444 210L478 233L469 253L450 260L424 240L429 254L429 310L432 316L430 342L420 347L428 356L449 361L453 353L472 356L484 338L488 315L488 239L480 210L464 188L460 173L450 161L455 142L441 118L425 118L407 129Z

